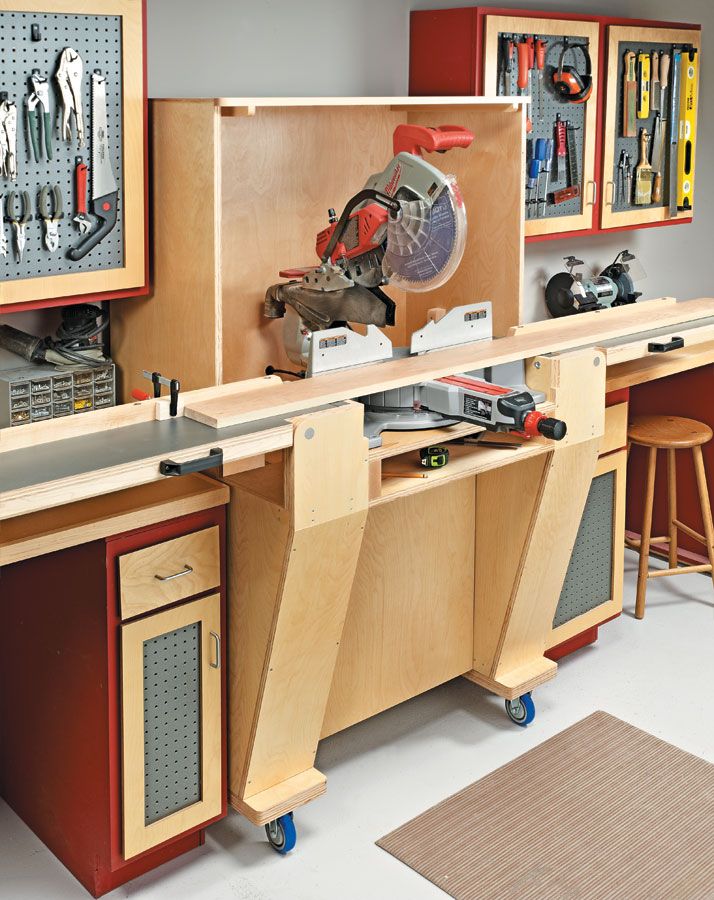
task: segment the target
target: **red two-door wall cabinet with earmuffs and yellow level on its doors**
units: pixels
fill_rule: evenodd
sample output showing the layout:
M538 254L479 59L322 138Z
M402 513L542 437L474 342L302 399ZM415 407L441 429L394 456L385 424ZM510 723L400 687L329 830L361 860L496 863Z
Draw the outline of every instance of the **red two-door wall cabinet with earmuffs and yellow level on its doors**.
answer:
M689 222L700 29L464 7L411 14L414 95L528 95L527 240Z

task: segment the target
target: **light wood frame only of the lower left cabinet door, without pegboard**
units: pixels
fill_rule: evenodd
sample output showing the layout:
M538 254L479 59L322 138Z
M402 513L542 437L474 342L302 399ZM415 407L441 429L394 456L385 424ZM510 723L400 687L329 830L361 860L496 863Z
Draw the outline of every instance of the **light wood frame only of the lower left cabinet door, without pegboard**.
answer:
M150 825L144 824L143 645L158 635L201 624L201 799ZM218 641L213 637L218 636ZM122 791L124 858L156 847L220 815L221 791L221 598L200 600L122 626ZM217 656L218 654L218 656Z

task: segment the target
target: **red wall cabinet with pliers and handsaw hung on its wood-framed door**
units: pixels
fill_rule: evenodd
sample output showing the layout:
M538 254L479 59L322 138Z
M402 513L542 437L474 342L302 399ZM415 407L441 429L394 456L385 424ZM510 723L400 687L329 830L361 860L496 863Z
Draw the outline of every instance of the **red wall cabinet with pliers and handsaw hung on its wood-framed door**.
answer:
M146 98L144 60L144 4L142 0L0 0L0 92L17 110L17 176L0 176L3 194L3 236L7 255L0 256L0 312L73 302L78 298L111 299L146 293ZM66 48L79 53L83 64L81 82L84 146L78 146L75 117L70 117L71 140L62 131L62 92L56 74ZM107 200L106 178L97 177L94 187L92 144L92 73L101 72L106 90L106 141L116 198ZM40 112L39 148L33 148L28 104L34 103L31 76L47 79L51 143L44 134L44 107ZM42 99L42 89L36 94ZM39 154L36 150L39 149ZM51 153L51 157L50 157ZM89 236L102 218L94 215L93 194L101 193L96 205L101 215L112 203L116 224L96 246L81 258L71 249L86 236L74 222L77 209L76 165L79 157L88 166L87 199ZM57 226L59 246L46 246L41 217L43 187L57 186L63 218ZM15 192L10 209L11 194ZM15 226L8 221L22 211L23 193L29 199L32 218L25 226L25 247L18 258ZM107 206L107 204L109 204ZM52 211L54 202L50 204Z

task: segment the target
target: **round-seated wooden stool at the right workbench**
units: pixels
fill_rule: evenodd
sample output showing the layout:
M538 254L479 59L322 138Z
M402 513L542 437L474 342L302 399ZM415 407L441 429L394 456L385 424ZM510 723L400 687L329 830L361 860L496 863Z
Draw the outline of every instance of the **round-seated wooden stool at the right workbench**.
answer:
M645 488L645 509L642 518L642 534L639 541L626 541L629 547L640 552L640 567L637 574L637 600L635 616L638 619L645 615L645 592L648 578L659 578L662 575L684 575L689 572L714 571L714 525L707 489L707 476L704 471L702 444L712 439L712 430L703 422L695 419L683 419L679 416L637 416L627 429L628 451L631 444L649 447L647 460L647 486ZM667 484L669 500L669 534L665 537L652 537L652 506L654 503L655 470L657 451L667 451ZM697 490L702 509L704 534L699 534L689 525L677 518L677 470L675 452L691 450L694 457L694 471L697 476ZM708 564L698 566L677 565L677 529L685 532L695 541L707 548ZM650 544L669 544L669 568L649 569L648 559Z

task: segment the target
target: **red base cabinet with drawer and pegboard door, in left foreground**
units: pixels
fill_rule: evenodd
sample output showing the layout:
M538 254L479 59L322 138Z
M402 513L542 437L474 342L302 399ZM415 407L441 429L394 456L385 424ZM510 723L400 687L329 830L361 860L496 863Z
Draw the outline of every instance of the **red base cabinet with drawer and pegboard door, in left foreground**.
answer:
M1 570L0 793L94 896L225 815L224 520L222 506L158 519ZM162 551L184 537L176 568ZM211 570L209 589L123 615L122 564L147 551L147 583Z

